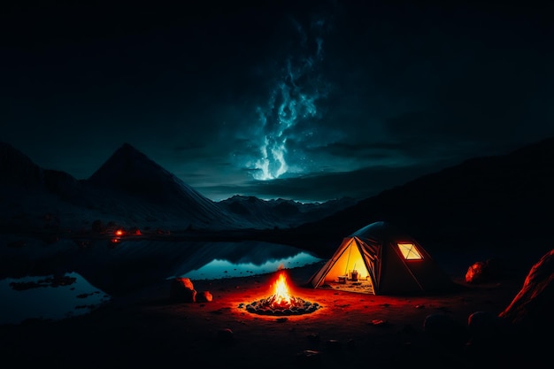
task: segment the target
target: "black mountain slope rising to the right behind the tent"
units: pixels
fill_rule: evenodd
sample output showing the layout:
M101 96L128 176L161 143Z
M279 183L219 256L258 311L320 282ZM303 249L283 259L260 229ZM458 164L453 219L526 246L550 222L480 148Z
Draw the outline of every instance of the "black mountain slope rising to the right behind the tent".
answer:
M326 257L342 237L386 220L430 248L548 250L552 183L554 138L549 138L505 155L468 159L268 239L311 243Z

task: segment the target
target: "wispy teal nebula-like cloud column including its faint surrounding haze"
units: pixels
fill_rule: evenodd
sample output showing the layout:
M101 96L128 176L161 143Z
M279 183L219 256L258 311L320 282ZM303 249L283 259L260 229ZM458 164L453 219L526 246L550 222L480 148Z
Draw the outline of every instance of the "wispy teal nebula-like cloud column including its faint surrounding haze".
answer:
M327 20L293 15L285 19L288 21L278 28L280 39L268 64L270 71L264 75L263 88L257 88L258 96L265 96L265 100L250 103L255 119L247 113L248 124L240 124L244 130L235 133L236 138L249 141L246 148L242 147L242 155L233 152L235 163L252 169L250 173L259 181L304 172L305 160L298 142L310 144L313 126L321 119L319 105L327 96L327 82L319 70ZM267 69L267 65L261 68ZM296 146L290 147L295 142Z

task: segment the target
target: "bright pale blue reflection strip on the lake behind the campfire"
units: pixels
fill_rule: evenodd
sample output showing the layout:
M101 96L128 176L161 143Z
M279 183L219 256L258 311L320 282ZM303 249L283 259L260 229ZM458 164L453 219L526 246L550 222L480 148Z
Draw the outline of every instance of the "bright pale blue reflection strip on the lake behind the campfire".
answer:
M281 267L294 268L297 266L316 263L318 261L319 258L314 258L306 252L300 252L289 258L269 260L263 264L254 264L252 262L231 263L228 260L215 259L199 269L181 274L181 277L187 277L191 280L214 280L219 278L244 277L256 274L273 273Z

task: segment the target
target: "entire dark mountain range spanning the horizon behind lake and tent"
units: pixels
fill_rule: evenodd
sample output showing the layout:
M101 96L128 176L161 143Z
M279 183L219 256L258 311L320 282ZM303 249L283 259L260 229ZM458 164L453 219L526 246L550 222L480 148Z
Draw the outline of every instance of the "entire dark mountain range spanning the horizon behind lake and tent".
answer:
M554 138L505 155L470 158L359 202L325 204L253 196L214 203L130 145L85 181L44 170L5 143L0 153L4 227L65 227L71 219L78 229L90 227L92 219L115 219L173 230L253 229L262 233L250 238L312 248L325 257L342 237L378 220L424 243L460 248L513 249L528 240L550 241L554 224Z

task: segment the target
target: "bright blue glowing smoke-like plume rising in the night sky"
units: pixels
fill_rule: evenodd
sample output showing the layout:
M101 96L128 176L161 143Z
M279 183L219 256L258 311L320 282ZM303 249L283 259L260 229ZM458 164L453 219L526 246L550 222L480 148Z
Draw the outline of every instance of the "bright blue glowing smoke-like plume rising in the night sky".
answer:
M328 84L318 71L323 61L325 22L318 19L306 31L293 20L298 36L298 55L289 56L274 81L265 104L256 106L258 124L252 131L255 157L246 160L254 179L274 180L286 173L303 173L305 155L298 142L310 140L319 119L319 100L327 96ZM299 132L303 131L303 132ZM289 140L296 149L289 151Z

